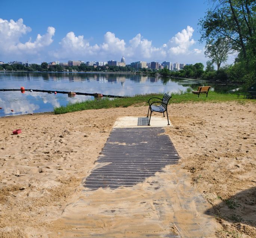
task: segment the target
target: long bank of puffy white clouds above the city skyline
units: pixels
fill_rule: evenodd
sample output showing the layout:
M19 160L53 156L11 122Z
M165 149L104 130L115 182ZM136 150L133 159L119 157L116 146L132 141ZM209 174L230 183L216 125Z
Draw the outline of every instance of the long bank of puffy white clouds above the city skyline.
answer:
M130 60L156 60L166 59L175 55L201 54L202 50L191 49L195 44L192 39L194 29L187 26L181 32L172 37L169 42L164 43L161 47L154 47L152 41L145 39L141 34L125 42L112 32L104 35L102 44L91 46L84 36L75 36L74 32L69 32L59 43L61 48L55 51L57 58L105 58L118 59L120 55L125 55Z

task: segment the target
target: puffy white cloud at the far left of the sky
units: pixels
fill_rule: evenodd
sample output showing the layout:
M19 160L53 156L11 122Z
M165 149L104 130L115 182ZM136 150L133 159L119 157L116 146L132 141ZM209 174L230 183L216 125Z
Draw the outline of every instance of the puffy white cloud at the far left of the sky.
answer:
M4 54L35 54L42 48L52 44L52 37L55 28L49 26L46 34L37 35L33 42L30 38L27 42L20 42L22 35L31 31L29 26L24 25L23 19L16 22L14 20L3 20L0 18L0 50Z

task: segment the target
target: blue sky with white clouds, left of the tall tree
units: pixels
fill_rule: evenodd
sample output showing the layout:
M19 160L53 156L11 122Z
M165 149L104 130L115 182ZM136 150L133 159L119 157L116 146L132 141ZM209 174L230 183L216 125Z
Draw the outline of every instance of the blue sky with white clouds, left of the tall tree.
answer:
M206 64L198 22L206 0L3 1L0 61Z

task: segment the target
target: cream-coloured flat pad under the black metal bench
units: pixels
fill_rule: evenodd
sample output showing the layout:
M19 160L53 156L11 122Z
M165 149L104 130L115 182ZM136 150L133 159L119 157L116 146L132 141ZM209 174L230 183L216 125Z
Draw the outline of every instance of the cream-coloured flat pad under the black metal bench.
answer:
M114 128L123 128L123 127L166 127L172 126L172 123L169 120L170 125L167 125L167 117L151 117L150 126L148 126L149 117L118 117L115 121Z

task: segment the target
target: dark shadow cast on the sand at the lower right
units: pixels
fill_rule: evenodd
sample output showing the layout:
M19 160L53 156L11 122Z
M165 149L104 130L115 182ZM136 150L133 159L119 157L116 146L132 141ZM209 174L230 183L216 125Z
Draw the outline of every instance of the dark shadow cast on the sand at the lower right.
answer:
M217 197L214 205L205 213L215 214L217 218L240 226L240 223L256 227L256 187L243 190L229 199ZM238 227L240 229L240 227ZM246 229L246 228L244 228ZM255 232L256 233L256 232Z

